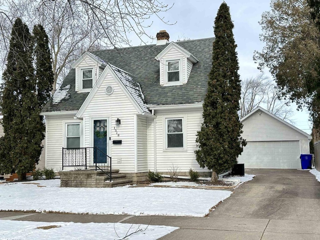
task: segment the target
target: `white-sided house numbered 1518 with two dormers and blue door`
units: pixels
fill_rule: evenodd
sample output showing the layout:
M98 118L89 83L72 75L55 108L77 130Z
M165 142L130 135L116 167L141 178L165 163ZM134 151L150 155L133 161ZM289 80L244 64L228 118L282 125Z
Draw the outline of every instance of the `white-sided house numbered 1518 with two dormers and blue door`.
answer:
M42 110L45 166L58 171L112 163L137 180L172 166L181 175L192 168L210 176L194 151L213 41L169 43L160 31L154 45L85 52Z

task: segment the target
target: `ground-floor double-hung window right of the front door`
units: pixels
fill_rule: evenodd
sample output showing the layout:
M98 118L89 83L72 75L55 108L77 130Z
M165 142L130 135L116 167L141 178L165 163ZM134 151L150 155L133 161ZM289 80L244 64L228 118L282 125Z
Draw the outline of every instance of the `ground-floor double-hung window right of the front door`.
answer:
M166 148L184 148L183 118L166 118Z

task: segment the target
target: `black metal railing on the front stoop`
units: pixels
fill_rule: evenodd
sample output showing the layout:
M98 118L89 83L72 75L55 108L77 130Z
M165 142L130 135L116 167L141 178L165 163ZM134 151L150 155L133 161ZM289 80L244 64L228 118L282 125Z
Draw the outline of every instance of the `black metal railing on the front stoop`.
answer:
M93 154L93 165L90 165ZM95 168L107 174L112 180L111 157L97 147L62 148L62 170L64 167Z

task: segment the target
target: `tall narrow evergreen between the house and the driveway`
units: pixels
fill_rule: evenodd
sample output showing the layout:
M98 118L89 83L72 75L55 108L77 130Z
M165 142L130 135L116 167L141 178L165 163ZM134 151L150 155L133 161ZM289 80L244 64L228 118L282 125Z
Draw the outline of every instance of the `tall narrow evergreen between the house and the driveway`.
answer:
M204 122L196 138L199 149L195 151L199 165L212 169L212 182L218 180L219 173L236 164L246 145L240 135L241 81L233 27L229 7L223 2L214 21L212 69L203 104Z

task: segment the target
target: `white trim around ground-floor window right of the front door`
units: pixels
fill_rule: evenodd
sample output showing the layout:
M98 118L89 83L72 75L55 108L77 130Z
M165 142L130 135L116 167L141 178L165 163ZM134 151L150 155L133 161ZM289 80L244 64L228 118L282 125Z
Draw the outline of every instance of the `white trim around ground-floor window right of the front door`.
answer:
M167 137L167 120L170 119L182 119L182 133L183 133L183 148L168 148ZM163 151L164 152L184 152L187 151L187 116L186 115L167 115L163 116Z

